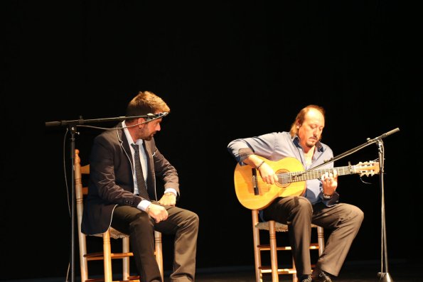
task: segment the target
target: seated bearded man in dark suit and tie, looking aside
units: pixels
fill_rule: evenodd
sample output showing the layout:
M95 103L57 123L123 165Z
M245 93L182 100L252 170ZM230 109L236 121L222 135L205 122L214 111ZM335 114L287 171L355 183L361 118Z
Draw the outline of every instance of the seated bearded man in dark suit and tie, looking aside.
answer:
M127 119L94 140L82 232L99 234L112 226L129 234L141 281L161 281L154 257L154 230L175 234L172 282L195 280L198 215L176 207L178 173L160 153L154 134L168 105L152 92L139 92ZM156 187L156 177L163 188Z

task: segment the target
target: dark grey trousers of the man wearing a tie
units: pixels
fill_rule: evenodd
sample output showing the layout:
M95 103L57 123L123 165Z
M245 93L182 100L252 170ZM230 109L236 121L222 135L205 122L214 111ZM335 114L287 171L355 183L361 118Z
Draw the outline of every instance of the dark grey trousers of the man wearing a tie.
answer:
M166 210L168 218L156 223L146 212L136 207L117 206L113 212L112 227L129 234L141 281L161 281L154 256L154 230L175 235L171 282L195 281L198 215L180 207L166 207Z

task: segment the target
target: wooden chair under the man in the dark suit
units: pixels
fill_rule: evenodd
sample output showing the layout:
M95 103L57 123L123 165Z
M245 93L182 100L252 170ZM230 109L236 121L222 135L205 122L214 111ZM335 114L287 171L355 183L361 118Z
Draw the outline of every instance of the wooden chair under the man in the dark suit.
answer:
M76 200L76 213L77 213L77 232L80 249L80 269L81 269L81 282L95 282L105 281L114 282L112 276L112 259L122 259L122 281L139 281L139 276L131 276L129 272L129 258L134 254L129 251L129 235L123 234L116 229L110 227L107 232L103 234L92 235L93 237L102 237L103 249L101 252L88 253L87 252L87 240L85 235L81 232L82 222L82 211L84 209L84 196L87 195L87 187L82 187L82 175L90 174L90 165L81 166L81 160L79 156L79 150L75 149L75 200ZM122 252L113 253L110 244L110 238L122 239ZM163 256L162 256L162 244L161 244L161 233L154 232L155 239L155 254L156 261L159 264L161 272L161 280L163 281ZM88 278L88 261L99 261L104 262L104 278ZM121 281L121 280L119 280Z

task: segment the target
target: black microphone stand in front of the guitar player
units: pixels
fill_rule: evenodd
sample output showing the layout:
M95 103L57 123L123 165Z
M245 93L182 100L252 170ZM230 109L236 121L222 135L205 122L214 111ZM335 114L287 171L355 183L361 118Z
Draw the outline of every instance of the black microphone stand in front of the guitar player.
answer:
M355 153L356 151L369 146L370 144L377 143L379 148L379 167L380 167L380 192L381 192L381 223L382 223L382 258L381 258L381 271L378 272L378 278L380 278L379 281L382 282L394 282L388 272L388 264L387 264L387 242L386 242L386 224L385 224L385 189L383 184L383 174L384 174L384 163L385 163L385 157L384 157L384 149L383 149L383 142L382 139L390 136L391 134L394 134L395 132L400 131L399 128L392 129L391 131L386 132L385 134L382 134L381 136L376 137L375 139L367 139L368 141L366 143L363 143L360 146L357 146L355 148L352 148L349 151L346 151L345 153L341 153L341 155L338 155L334 158L331 158L329 160L323 161L321 165L316 166L314 168L311 168L309 170L306 170L304 173L315 170L316 168L319 168L321 166L324 166L326 163L331 163L333 161L337 161L343 157L346 157L352 153ZM301 173L301 174L304 174Z

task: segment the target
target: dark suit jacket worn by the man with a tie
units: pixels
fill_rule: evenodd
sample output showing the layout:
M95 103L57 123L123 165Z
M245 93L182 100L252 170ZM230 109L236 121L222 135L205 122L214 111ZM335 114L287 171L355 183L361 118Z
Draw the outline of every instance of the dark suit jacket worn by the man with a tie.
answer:
M121 127L119 124L117 127ZM178 191L176 169L156 148L154 139L144 141L148 158L147 187L151 200L158 200L166 188ZM117 205L136 207L142 198L134 195L132 177L132 153L123 129L107 130L94 139L90 156L90 183L82 215L82 232L99 234L105 232L112 222ZM156 177L163 180L160 191L156 190Z

